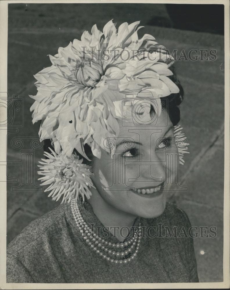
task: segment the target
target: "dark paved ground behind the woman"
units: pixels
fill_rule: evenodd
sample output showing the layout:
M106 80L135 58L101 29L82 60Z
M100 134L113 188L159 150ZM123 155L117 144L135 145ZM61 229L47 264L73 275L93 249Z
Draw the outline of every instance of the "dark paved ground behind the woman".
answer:
M16 3L8 7L8 94L12 106L8 110L7 242L58 204L37 181L43 148L36 143L39 124L32 124L29 111L33 100L28 95L36 94L33 75L51 65L48 54L80 39L95 23L102 30L111 19L117 22L116 27L141 20L145 28L139 30L140 35L153 35L170 51L217 50L215 61L175 62L185 90L181 125L190 154L180 168L180 185L188 190L173 192L169 200L186 211L193 226L216 226L215 238L195 238L194 246L200 282L222 281L224 6Z

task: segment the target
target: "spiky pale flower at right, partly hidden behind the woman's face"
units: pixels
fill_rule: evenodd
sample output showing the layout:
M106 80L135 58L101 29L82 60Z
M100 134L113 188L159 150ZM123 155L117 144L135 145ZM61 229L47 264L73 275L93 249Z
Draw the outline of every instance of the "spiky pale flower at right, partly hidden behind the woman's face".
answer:
M184 165L184 154L189 153L187 138L184 136L184 133L182 133L182 127L180 125L174 126L174 140L175 144L178 149L178 155L179 155L179 163Z

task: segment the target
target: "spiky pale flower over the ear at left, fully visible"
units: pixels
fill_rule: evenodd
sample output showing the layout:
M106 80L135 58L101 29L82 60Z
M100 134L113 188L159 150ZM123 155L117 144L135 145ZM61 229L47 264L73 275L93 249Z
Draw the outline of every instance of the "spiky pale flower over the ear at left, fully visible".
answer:
M52 196L53 200L59 200L62 197L63 202L70 202L71 199L77 198L80 193L85 200L90 197L91 192L88 187L94 187L90 175L91 167L82 164L82 159L79 159L78 155L72 154L67 156L62 151L57 155L51 148L50 151L53 153L44 152L44 155L48 159L42 159L39 161L38 167L42 171L38 171L39 175L44 175L38 180L42 180L41 185L48 185L46 191L51 191L48 196Z

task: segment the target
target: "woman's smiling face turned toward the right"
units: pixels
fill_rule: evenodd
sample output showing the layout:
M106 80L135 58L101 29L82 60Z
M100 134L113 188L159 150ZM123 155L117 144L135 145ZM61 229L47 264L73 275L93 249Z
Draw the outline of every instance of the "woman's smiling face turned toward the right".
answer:
M165 209L167 183L175 178L175 164L167 162L177 155L173 124L163 111L154 126L121 121L119 126L113 158L102 150L101 158L95 158L92 180L103 200L116 209L157 217Z

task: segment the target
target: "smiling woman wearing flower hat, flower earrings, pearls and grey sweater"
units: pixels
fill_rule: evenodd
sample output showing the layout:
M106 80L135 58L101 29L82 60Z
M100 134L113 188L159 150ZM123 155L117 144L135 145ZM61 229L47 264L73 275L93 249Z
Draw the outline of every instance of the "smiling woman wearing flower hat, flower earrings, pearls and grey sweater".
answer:
M62 204L9 244L8 282L198 282L191 224L166 202L187 152L183 89L138 25L94 25L35 75L40 180Z

